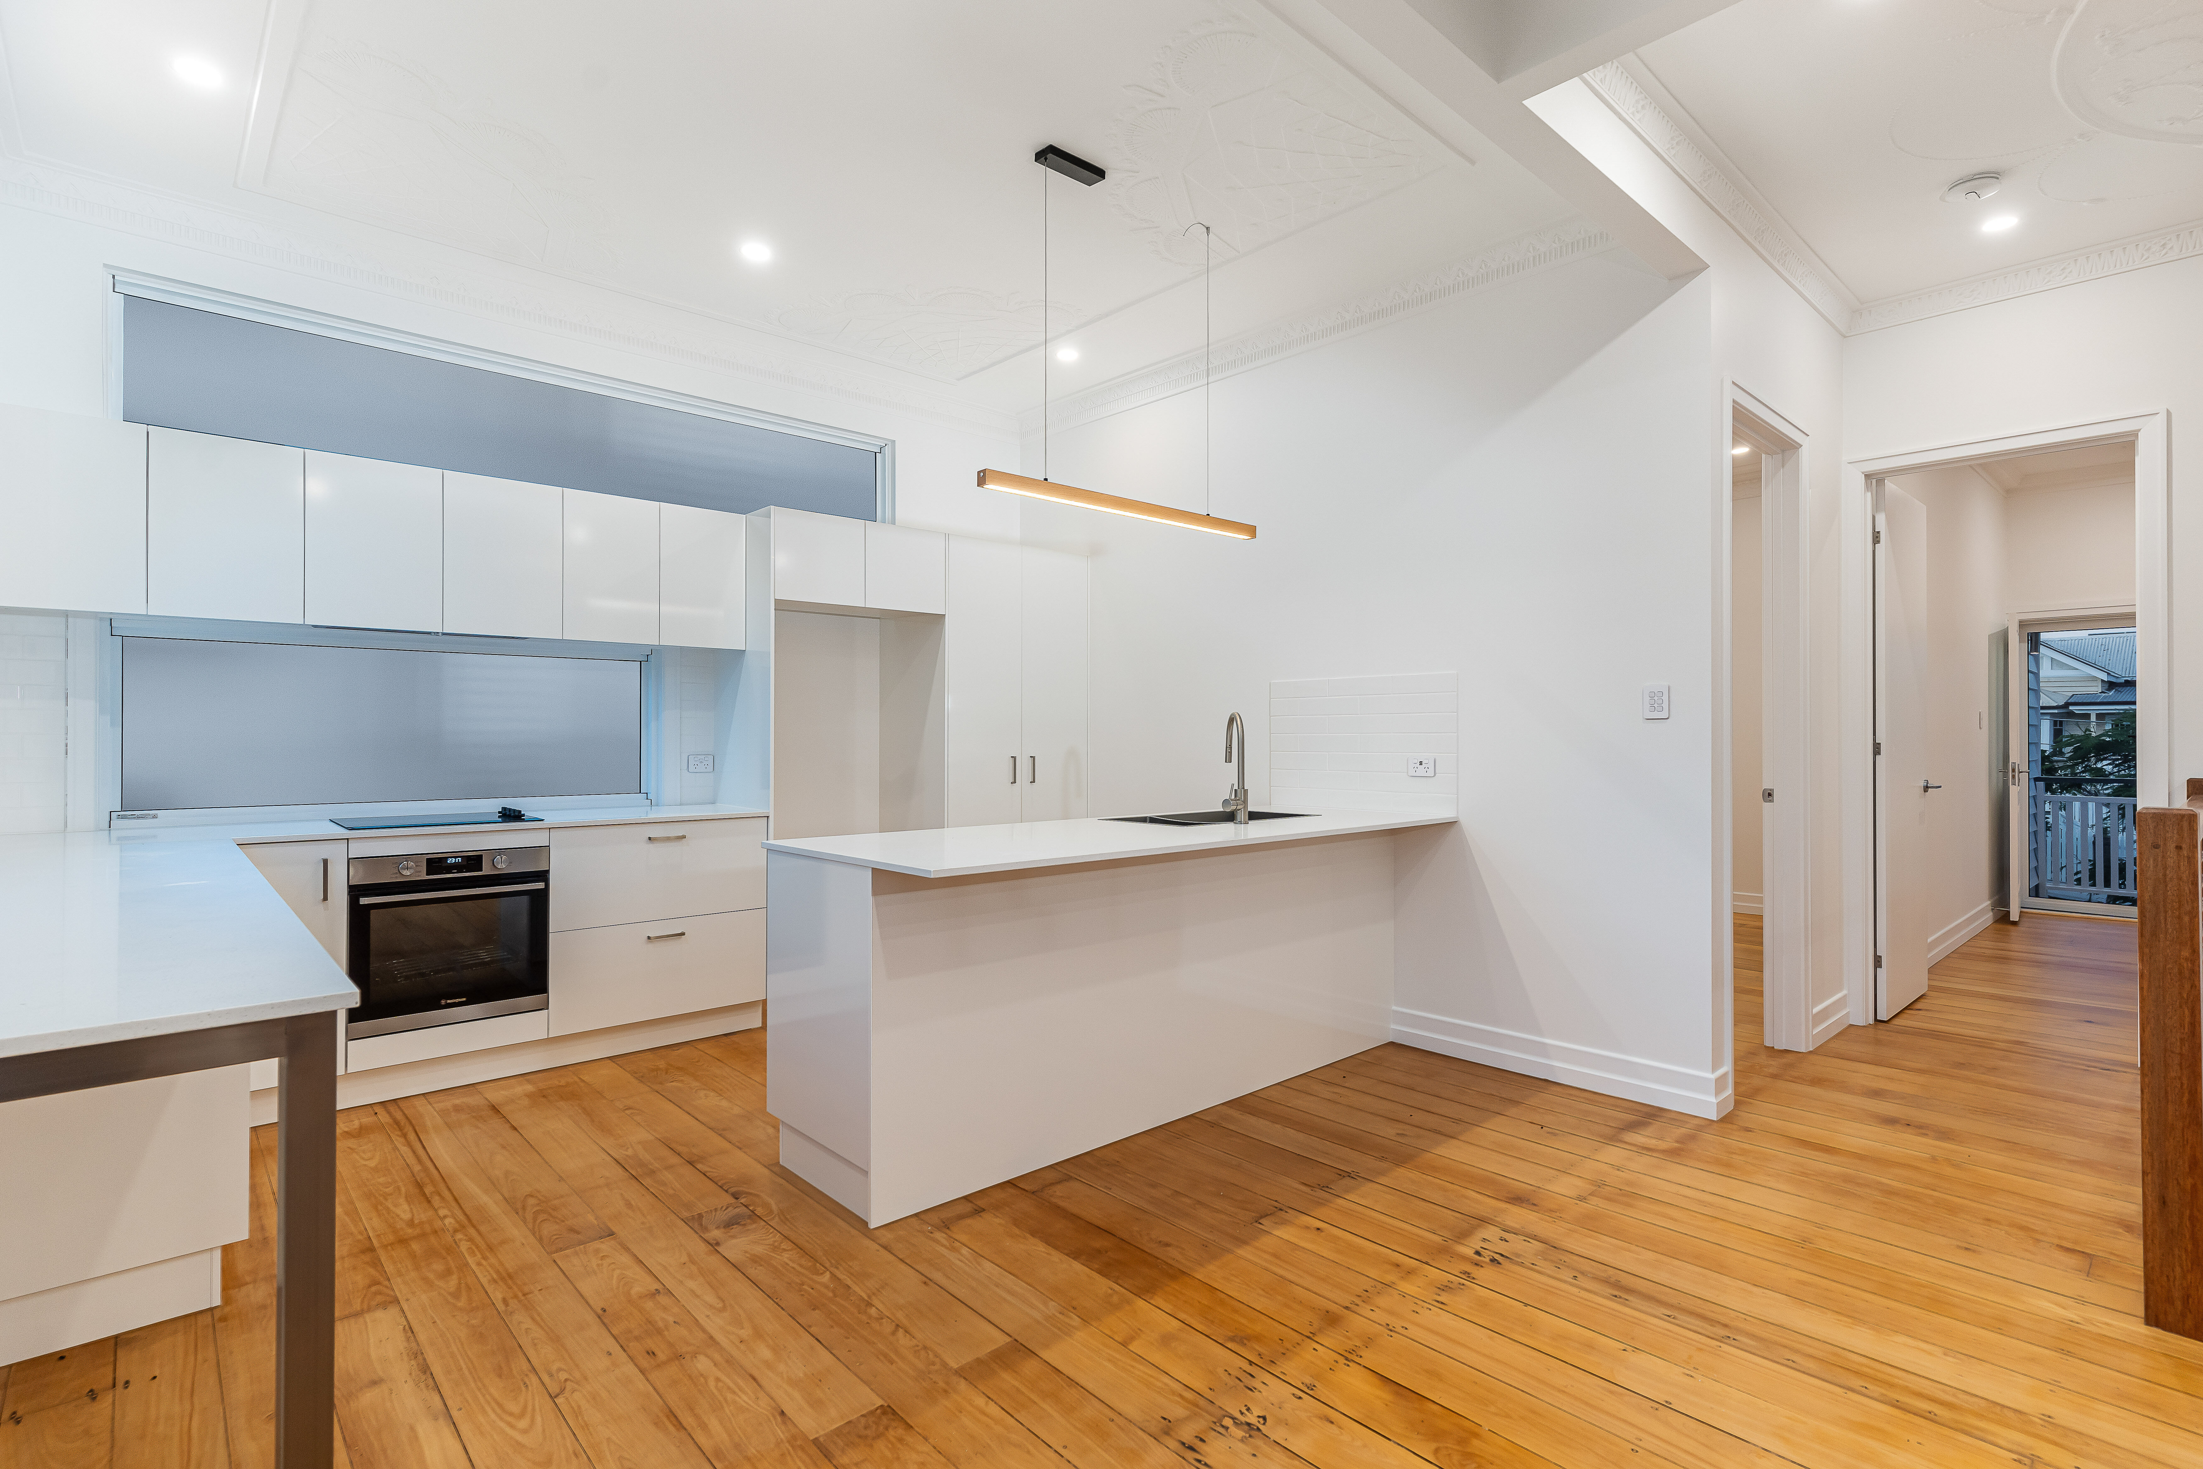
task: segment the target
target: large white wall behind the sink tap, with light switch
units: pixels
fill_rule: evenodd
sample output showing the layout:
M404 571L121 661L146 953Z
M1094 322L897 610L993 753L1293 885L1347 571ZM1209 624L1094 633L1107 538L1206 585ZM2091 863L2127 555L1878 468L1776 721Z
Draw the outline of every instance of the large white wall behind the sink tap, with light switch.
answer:
M1024 513L1095 557L1097 815L1214 804L1234 709L1267 771L1271 678L1474 670L1461 824L1401 839L1397 1033L1701 1114L1727 910L1710 308L1588 260L1216 383L1214 511L1254 542ZM1176 504L1201 465L1198 392L1051 445L1060 480ZM1639 718L1643 683L1674 718Z

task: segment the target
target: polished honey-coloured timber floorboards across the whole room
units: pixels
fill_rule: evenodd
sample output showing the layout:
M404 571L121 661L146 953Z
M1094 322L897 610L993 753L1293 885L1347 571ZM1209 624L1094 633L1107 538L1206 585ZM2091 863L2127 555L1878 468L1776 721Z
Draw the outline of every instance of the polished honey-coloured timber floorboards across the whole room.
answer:
M341 1114L361 1469L2203 1465L2139 1319L2133 925L1994 925L1701 1121L1377 1046L864 1229L764 1033ZM273 1130L225 1304L0 1368L0 1469L271 1462Z

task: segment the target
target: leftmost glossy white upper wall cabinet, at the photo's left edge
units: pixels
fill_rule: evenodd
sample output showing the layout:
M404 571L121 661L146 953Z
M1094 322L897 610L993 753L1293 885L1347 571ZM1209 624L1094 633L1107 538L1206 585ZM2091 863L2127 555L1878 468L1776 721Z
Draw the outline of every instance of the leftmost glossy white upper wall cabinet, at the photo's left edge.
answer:
M0 407L0 606L145 610L145 427Z

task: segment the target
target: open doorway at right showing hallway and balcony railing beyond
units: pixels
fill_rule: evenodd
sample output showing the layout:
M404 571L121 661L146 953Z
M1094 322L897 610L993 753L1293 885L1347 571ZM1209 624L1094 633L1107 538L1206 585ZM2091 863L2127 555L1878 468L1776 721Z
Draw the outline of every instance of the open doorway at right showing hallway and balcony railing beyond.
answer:
M2135 436L1870 478L1873 1018L1998 916L2133 912Z

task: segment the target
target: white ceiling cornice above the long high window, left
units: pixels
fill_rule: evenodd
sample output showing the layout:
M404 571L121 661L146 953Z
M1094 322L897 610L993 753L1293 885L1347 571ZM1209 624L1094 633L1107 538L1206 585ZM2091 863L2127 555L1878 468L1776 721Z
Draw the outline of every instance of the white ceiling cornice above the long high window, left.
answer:
M401 269L390 258L394 251L375 249L375 238L383 231L333 216L330 220L346 233L368 238L346 247L308 238L273 220L22 159L0 159L0 203L399 300L456 308L736 381L815 392L853 407L912 412L1005 438L1016 432L1016 414L989 410L932 383L894 381L899 374L890 377L892 368L868 370L824 350L791 350L791 344L762 333L626 297L604 286L502 266L487 258L471 258L463 273ZM408 244L419 253L416 242Z

